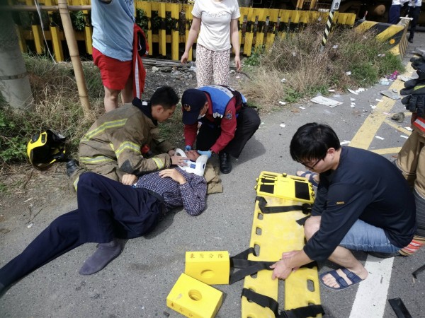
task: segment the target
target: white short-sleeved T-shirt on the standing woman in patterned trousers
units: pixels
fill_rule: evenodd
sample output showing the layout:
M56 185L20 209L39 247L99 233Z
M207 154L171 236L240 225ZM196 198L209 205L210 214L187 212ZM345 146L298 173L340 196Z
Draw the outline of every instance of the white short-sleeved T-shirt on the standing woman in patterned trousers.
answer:
M200 18L198 44L212 51L230 49L230 21L241 16L237 0L196 0L192 15Z

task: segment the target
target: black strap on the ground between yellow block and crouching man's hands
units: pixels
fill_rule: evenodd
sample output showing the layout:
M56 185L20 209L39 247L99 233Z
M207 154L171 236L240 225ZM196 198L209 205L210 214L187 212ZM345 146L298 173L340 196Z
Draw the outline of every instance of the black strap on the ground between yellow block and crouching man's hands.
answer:
M248 255L251 253L254 254L254 256L257 256L254 247L249 247L249 249L244 250L244 252L234 255L234 257L230 257L230 267L240 269L239 271L234 271L230 274L230 285L240 281L245 278L245 276L257 273L263 269L271 271L272 269L270 266L276 263L276 261L249 261Z

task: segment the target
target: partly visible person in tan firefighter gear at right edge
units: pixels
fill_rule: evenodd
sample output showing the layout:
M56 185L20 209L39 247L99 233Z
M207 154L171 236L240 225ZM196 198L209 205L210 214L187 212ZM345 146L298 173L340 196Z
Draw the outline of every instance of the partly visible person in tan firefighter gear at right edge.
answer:
M403 255L413 254L425 243L425 59L410 61L419 78L405 82L400 94L405 95L402 103L412 112L413 131L399 151L395 165L413 187L418 228L412 242L400 251Z

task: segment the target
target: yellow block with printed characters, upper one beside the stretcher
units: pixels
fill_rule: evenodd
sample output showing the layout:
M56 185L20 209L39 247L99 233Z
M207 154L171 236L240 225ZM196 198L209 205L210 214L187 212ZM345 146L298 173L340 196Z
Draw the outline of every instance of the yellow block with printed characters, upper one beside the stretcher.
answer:
M229 252L186 252L184 273L208 285L228 284L230 274Z

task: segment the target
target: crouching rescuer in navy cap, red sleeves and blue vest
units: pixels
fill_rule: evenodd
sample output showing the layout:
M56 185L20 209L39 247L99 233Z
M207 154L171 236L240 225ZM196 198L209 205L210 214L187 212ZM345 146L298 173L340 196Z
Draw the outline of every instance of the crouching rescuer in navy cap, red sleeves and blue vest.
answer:
M232 170L230 155L239 157L245 144L260 126L256 110L246 106L246 98L229 86L201 86L185 90L181 97L186 150L196 148L201 155L217 153L220 171ZM198 122L201 122L198 135Z

